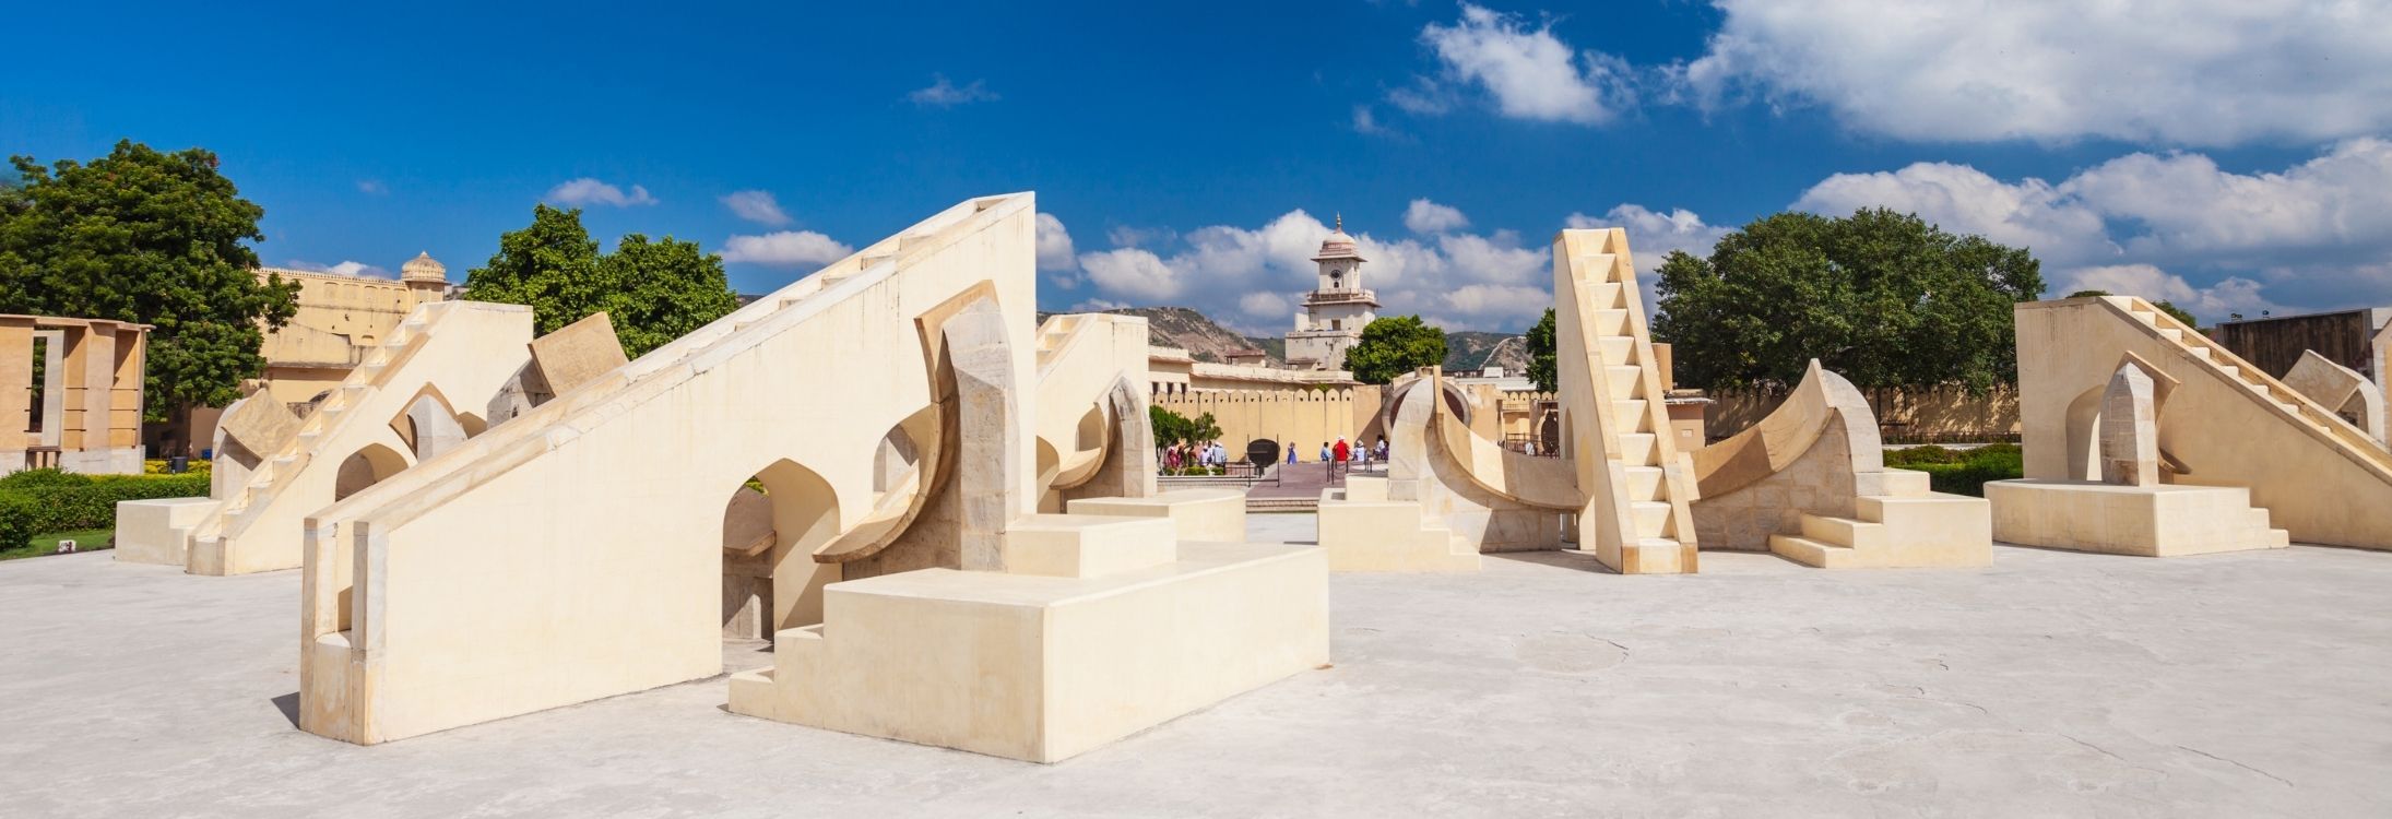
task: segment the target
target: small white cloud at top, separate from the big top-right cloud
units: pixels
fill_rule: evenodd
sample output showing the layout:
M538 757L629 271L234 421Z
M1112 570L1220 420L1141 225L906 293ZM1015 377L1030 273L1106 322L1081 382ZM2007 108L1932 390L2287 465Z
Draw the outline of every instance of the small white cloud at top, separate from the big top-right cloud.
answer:
M1428 24L1421 41L1438 53L1457 81L1483 86L1497 110L1519 120L1600 125L1634 103L1629 67L1603 53L1579 53L1552 36L1552 26L1528 29L1519 17L1462 5L1452 26ZM1435 108L1435 96L1390 96L1414 110Z

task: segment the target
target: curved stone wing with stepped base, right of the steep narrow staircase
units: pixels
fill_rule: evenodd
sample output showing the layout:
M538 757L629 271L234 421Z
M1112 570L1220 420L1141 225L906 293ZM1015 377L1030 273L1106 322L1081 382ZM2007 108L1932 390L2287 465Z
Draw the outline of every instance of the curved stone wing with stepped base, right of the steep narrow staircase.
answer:
M1818 568L1993 563L1993 508L1887 469L1851 381L1811 362L1777 412L1694 453L1703 548L1770 551Z

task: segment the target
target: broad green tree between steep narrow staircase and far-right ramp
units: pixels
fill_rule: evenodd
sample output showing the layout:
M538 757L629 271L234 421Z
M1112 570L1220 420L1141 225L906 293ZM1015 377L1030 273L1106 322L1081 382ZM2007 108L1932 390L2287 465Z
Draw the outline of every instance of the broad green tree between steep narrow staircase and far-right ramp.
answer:
M1883 208L1765 216L1658 278L1653 340L1705 388L1792 386L1808 359L1861 388L2014 383L2012 304L2043 292L2026 249Z

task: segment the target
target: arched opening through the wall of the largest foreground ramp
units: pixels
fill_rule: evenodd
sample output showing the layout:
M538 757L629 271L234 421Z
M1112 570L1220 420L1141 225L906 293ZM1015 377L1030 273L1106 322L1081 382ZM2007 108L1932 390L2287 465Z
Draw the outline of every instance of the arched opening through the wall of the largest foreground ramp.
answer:
M813 563L813 551L837 534L837 493L813 469L782 457L732 486L722 505L722 637L761 651L753 666L770 663L763 644L775 632L823 623L823 584L840 580L840 565Z

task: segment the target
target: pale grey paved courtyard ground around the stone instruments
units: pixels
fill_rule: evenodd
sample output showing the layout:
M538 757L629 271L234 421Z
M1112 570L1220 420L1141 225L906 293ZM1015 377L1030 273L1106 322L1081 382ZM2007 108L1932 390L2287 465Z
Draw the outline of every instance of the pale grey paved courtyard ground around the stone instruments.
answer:
M2385 817L2385 589L2392 553L2306 546L1335 575L1335 668L1036 766L734 716L722 680L342 745L292 728L299 572L57 556L0 563L0 814Z

